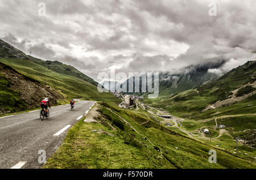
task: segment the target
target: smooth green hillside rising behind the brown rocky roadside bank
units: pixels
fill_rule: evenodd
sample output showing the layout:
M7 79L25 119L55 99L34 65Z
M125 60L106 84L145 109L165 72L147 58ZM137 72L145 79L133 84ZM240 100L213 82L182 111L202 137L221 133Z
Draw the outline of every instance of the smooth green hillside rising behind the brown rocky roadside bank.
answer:
M38 80L42 84L60 90L67 98L88 98L88 100L117 99L111 93L100 93L97 87L71 75L55 72L28 59L0 58L0 62L11 66L20 74Z

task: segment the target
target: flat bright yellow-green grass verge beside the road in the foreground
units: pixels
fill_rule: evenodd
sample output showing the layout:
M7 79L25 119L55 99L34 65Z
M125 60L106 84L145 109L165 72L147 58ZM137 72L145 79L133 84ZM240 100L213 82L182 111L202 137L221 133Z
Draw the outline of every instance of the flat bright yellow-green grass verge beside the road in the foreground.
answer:
M97 134L94 129L111 132L115 137ZM174 168L158 160L153 148L139 149L126 144L122 135L99 123L82 120L69 130L64 143L44 168Z

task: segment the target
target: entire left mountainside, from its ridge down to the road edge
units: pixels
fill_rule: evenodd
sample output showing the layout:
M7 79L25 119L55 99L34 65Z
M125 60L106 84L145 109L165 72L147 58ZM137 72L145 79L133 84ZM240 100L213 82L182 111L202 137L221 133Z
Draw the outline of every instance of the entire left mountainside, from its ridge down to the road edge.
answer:
M44 97L53 105L71 98L119 103L112 93L98 92L98 83L75 67L34 58L2 40L0 70L0 115L39 108Z

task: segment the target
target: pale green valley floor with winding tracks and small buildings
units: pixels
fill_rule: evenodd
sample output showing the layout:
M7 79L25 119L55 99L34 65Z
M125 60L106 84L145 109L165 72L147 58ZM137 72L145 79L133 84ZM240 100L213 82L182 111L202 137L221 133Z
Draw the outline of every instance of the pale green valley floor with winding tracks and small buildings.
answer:
M157 114L159 114L159 109L155 109L152 107L146 106L146 110L148 113L154 114L156 117L159 117ZM152 111L156 112L153 113ZM247 117L251 118L251 122L253 122L253 118L255 118L256 114L247 114ZM240 119L243 119L243 123L247 123L244 117L244 114L237 114L237 115L225 115L224 117L218 117L218 118L209 118L209 119L201 119L197 121L193 121L191 119L185 120L183 118L178 118L172 115L171 118L162 118L160 117L160 123L163 123L163 125L166 125L166 123L172 123L172 126L168 127L171 129L178 130L177 132L184 132L184 134L188 135L191 138L196 138L199 140L204 140L206 143L210 143L213 145L216 145L217 147L224 148L230 152L233 153L240 153L243 156L249 155L251 157L255 157L256 153L254 151L254 144L252 143L245 143L242 139L240 139L239 147L243 150L236 150L236 132L237 130L234 128L230 128L230 126L223 121L225 118L230 117L240 117ZM230 121L233 121L233 119L230 119ZM220 125L226 125L226 128L219 128ZM253 127L251 125L247 125L247 127ZM210 135L205 135L204 132L201 132L204 128L208 128L210 130ZM245 128L241 128L239 132L246 132ZM247 129L248 131L248 129ZM233 140L232 140L233 139ZM233 144L232 144L233 142ZM247 150L246 150L247 149Z

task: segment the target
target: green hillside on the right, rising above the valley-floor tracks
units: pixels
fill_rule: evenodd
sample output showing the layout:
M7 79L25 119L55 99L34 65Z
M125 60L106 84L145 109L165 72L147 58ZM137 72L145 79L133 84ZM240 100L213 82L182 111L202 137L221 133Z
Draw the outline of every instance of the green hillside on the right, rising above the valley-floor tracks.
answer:
M247 83L254 83L256 77L256 61L249 61L245 65L234 68L221 78L197 89L190 89L175 96L163 96L153 100L144 98L146 104L156 108L165 108L168 112L183 118L202 119L213 115L256 113L255 95L238 101L235 104L202 112L208 105L219 100L226 100L232 91L243 87ZM255 91L254 88L241 88L236 96ZM217 113L217 114L216 114Z

